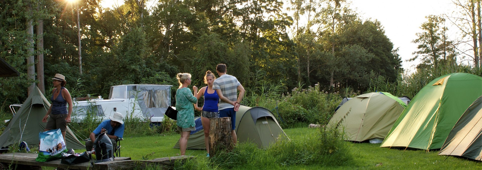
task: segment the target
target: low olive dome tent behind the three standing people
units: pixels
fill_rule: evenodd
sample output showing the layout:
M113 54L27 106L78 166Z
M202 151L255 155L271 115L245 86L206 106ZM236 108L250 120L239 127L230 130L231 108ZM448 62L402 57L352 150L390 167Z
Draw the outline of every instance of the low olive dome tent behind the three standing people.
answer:
M236 112L236 135L238 142L252 142L259 148L266 148L276 142L279 135L285 135L276 117L268 109L240 106ZM174 145L179 148L179 142ZM206 149L204 146L204 130L189 135L188 149Z

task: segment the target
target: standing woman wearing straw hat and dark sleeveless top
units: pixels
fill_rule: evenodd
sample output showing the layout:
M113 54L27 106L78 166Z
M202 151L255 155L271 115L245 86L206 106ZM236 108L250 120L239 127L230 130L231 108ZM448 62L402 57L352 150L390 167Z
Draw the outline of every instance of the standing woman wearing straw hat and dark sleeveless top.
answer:
M70 97L67 88L64 87L65 84L67 84L64 75L55 74L52 80L55 88L52 90L52 97L50 97L52 104L42 119L43 122L47 122L44 131L60 129L62 136L64 136L64 141L66 141L65 131L67 129L67 123L70 123L70 115L72 114L72 97ZM47 121L49 116L50 119Z

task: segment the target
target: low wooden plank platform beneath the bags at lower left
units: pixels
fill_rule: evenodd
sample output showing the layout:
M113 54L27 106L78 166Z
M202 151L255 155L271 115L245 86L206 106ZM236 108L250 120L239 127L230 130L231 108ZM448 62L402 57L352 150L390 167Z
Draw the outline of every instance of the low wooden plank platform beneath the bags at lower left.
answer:
M73 170L92 169L91 162L83 162L83 163L78 163L74 165L66 165L66 164L60 163L60 159L46 161L46 162L37 162L35 161L35 158L37 158L37 156L38 156L37 154L33 154L33 153L0 154L0 162L10 163L10 164L20 164L20 165L57 167L57 168L65 168L65 169L73 169ZM119 161L119 160L131 160L131 158L130 157L114 158L114 161Z

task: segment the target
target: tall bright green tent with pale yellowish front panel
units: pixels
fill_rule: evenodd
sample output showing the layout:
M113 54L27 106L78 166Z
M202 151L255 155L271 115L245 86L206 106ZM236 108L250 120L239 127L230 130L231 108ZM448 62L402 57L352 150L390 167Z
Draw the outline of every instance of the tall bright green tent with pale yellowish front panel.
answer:
M439 149L457 120L482 95L482 77L450 73L425 85L380 147Z

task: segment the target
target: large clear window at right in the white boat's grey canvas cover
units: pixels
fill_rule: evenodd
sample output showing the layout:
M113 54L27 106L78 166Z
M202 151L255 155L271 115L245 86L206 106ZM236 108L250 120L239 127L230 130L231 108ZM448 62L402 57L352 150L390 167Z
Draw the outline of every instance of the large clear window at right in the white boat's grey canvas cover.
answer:
M147 108L167 108L169 106L168 90L143 90Z

